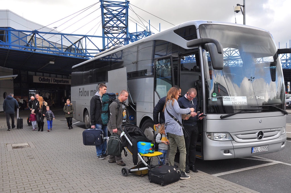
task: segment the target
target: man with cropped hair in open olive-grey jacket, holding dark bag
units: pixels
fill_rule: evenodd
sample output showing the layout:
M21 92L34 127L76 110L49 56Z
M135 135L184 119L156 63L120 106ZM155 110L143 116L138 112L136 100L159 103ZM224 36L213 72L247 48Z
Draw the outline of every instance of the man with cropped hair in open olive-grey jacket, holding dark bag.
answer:
M126 90L122 90L119 93L116 101L113 101L110 106L110 119L107 124L108 131L111 133L121 134L120 125L129 123L128 113L125 105L125 101L128 98L128 92ZM118 105L119 103L119 105ZM122 161L121 154L120 156L109 156L109 163L115 163L120 166L125 166L125 163Z

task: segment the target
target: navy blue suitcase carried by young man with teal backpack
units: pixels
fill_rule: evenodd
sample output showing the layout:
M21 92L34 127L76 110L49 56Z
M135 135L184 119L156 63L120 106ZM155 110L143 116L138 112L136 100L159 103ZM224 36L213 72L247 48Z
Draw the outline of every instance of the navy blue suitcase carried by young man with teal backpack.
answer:
M86 129L83 131L84 145L101 145L103 141L103 131L101 129Z

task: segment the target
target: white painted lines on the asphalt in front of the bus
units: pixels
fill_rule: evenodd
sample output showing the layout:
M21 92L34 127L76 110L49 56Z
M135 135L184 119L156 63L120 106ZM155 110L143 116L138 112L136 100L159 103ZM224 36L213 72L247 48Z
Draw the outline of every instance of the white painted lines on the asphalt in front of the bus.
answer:
M251 166L251 167L245 167L245 168L242 168L242 169L235 169L235 170L232 170L232 171L226 171L226 172L221 172L221 173L217 173L217 174L212 174L212 176L222 176L222 175L226 175L226 174L232 174L232 173L236 173L236 172L240 172L240 171L245 171L245 170L249 170L249 169L255 169L255 168L259 168L259 167L265 167L265 166L274 165L274 164L285 164L285 165L291 166L291 164L285 163L285 162L279 162L279 161L276 161L276 160L270 160L270 159L262 158L262 157L259 157L259 156L252 156L252 157L254 157L254 158L241 158L241 159L260 160L260 161L264 160L264 161L268 161L270 163Z

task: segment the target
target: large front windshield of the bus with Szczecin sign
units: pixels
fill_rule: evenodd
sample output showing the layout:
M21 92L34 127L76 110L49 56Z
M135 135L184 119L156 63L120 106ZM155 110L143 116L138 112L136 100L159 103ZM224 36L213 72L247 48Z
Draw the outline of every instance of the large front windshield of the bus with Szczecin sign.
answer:
M200 37L216 39L223 47L222 70L212 68L205 52L207 113L277 111L285 108L281 62L270 33L248 27L204 24ZM208 99L208 100L207 100ZM258 107L259 106L259 107Z

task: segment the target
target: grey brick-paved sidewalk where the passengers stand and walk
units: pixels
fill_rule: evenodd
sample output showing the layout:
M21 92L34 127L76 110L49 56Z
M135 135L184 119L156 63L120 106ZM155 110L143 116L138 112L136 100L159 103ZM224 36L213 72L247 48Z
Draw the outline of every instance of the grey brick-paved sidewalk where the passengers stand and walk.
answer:
M109 163L108 157L99 160L95 146L83 145L83 128L69 130L62 109L52 110L56 115L52 132L47 132L46 119L43 132L32 131L26 124L28 110L20 112L24 128L7 131L5 114L0 112L1 193L256 192L201 171L164 187L149 183L147 176L124 177L121 166ZM12 148L21 143L28 147ZM134 166L131 156L123 155L123 161L127 168Z

